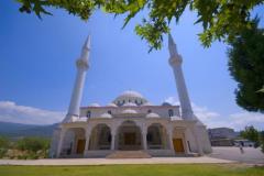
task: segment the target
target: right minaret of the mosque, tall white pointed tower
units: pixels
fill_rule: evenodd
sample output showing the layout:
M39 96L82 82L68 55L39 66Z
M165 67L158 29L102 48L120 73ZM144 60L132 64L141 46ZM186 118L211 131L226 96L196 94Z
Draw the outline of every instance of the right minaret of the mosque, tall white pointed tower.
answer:
M183 58L177 52L177 46L174 43L174 40L170 34L168 34L168 50L169 50L169 65L173 67L174 77L176 80L179 102L182 107L182 117L186 120L196 120L191 106L190 100L187 91L187 87L185 85L184 74L182 69Z

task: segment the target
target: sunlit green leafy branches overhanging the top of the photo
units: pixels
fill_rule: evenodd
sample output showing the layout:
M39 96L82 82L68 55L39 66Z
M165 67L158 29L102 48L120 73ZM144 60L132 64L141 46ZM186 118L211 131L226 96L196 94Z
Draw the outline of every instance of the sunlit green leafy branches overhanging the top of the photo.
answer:
M264 0L18 0L21 12L34 12L38 18L51 14L47 7L61 8L70 14L88 20L92 12L102 9L116 15L127 14L124 25L142 10L148 12L147 18L135 26L141 38L146 40L150 51L162 47L163 34L169 32L172 21L179 22L184 11L189 8L197 13L204 32L199 38L205 46L216 41L230 42L244 29L250 29L251 11L264 3Z

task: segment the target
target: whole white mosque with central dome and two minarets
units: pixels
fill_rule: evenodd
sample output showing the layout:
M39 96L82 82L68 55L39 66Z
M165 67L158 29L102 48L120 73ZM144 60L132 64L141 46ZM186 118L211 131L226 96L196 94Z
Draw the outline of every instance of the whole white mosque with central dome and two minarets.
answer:
M51 157L199 156L211 153L206 125L194 114L172 35L169 59L180 106L154 106L136 91L124 91L107 106L80 107L89 68L90 37L76 62L68 113L54 131Z

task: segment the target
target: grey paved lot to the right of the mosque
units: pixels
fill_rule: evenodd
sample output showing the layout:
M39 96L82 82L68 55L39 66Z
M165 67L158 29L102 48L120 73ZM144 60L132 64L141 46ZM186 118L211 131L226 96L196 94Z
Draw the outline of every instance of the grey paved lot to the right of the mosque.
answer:
M208 156L246 164L264 164L264 153L261 152L260 147L243 147L243 150L244 153L242 154L237 146L212 147L212 153Z

